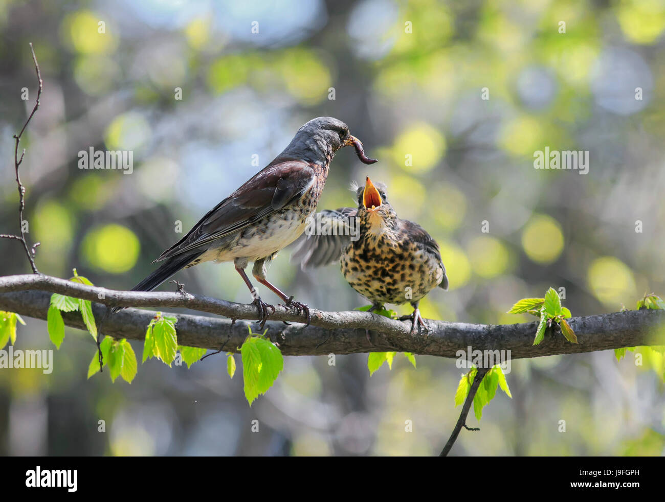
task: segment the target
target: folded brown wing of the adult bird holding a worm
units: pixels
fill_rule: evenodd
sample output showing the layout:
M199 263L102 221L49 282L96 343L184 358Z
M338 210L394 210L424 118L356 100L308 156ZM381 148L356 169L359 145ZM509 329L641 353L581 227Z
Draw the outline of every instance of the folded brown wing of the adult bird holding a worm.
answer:
M208 211L187 235L155 261L192 251L278 211L299 199L314 176L307 162L287 160L269 164Z

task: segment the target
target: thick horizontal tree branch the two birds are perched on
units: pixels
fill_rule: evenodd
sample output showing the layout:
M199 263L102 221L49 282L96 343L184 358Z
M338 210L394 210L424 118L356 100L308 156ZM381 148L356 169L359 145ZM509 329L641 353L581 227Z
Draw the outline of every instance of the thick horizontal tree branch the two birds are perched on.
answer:
M231 319L255 320L256 307L201 295L182 293L142 293L114 291L90 287L46 275L10 275L0 277L0 309L21 315L45 319L51 293L92 300L108 306L154 307L168 309L181 307L199 312L219 314ZM94 305L94 304L93 304ZM106 309L94 305L95 317L102 318ZM104 332L116 338L143 340L146 326L154 315L151 311L125 309L108 316ZM80 314L63 314L68 326L84 328ZM211 316L177 314L178 342L182 345L236 351L247 336L247 322L231 324L229 320ZM397 350L448 358L457 358L460 350L505 350L511 359L576 354L610 348L638 345L665 344L662 326L665 311L626 311L612 314L573 317L569 324L575 330L578 344L571 344L560 334L547 332L545 340L533 346L537 322L524 324L467 324L426 320L429 332L409 334L410 323L372 313L325 312L311 309L311 326L286 326L281 322L305 322L303 314L296 314L283 305L275 306L275 313L266 324L268 334L277 342L285 355L350 354L355 352L384 352ZM659 329L660 328L660 329ZM372 342L365 336L372 332ZM508 353L507 351L510 350Z

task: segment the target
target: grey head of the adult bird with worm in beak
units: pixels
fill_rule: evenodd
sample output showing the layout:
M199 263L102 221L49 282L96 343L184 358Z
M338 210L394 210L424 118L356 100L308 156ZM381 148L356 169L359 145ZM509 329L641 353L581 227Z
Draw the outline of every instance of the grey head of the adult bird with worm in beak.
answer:
M337 150L348 145L354 146L362 162L376 162L365 156L362 143L348 132L344 122L333 117L317 117L298 130L280 157L327 164Z

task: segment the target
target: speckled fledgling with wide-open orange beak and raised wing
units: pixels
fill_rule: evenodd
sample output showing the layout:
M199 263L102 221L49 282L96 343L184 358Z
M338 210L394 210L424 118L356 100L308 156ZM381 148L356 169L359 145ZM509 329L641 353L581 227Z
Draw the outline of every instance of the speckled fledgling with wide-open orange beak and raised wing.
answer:
M299 261L303 269L339 260L344 279L372 302L370 311L382 309L384 303L409 302L414 313L402 320L413 319L411 332L416 325L427 329L418 309L420 300L437 286L448 290L438 244L417 223L398 218L384 184L375 186L368 176L356 195L357 208L321 211L316 224L319 230L328 229L308 231L291 260Z

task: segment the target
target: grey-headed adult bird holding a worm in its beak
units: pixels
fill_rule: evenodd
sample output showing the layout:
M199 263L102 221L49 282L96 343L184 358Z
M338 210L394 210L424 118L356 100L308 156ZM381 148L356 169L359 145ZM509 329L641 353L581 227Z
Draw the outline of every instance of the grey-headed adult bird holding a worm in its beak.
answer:
M337 150L352 145L358 158L367 158L362 143L351 136L348 126L332 117L318 117L303 125L270 164L213 209L208 211L180 241L164 251L155 262L162 265L138 283L132 291L152 291L181 269L204 261L233 261L245 281L259 311L261 327L275 310L261 300L245 273L250 261L252 273L297 313L311 317L304 303L293 301L266 279L266 266L301 233L307 218L313 215L328 178L329 165ZM114 309L114 311L119 308Z

